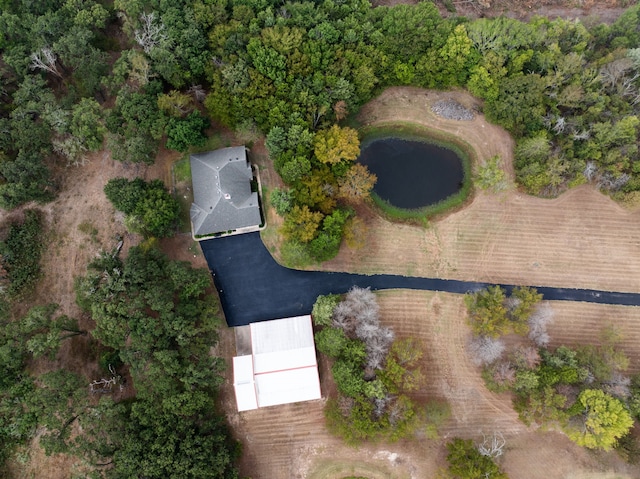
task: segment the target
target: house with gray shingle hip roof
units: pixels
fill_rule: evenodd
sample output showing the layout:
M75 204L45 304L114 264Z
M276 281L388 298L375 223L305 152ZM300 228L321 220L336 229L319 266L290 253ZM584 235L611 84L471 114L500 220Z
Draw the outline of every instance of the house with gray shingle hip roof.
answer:
M262 223L258 193L251 191L253 172L244 146L191 155L191 179L194 239L258 229Z

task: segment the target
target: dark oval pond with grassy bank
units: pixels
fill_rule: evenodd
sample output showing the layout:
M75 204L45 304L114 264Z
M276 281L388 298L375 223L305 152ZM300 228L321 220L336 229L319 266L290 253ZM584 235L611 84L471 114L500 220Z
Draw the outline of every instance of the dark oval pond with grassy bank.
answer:
M437 203L458 192L464 181L462 160L455 152L420 141L374 140L358 161L378 177L373 191L398 208Z

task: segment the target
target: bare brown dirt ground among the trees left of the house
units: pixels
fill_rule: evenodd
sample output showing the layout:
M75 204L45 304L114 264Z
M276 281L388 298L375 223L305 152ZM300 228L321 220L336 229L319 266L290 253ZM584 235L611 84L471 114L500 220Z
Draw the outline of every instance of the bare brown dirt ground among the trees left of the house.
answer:
M170 186L171 164L177 156L175 152L162 150L152 166L127 165L113 161L108 152L100 151L91 155L83 166L54 165L54 178L60 190L55 201L41 206L27 205L43 212L45 253L42 278L29 301L25 301L17 313L23 313L36 304L56 303L60 306L59 313L78 318L82 329L93 329L93 321L75 304L75 277L85 274L88 263L100 251L112 250L120 237L124 239L123 255L141 240L139 236L126 232L122 215L114 210L104 195L104 185L111 178L140 176L145 180L160 178ZM11 215L21 214L22 209ZM202 253L199 248L194 248L188 235L162 240L161 247L173 259L206 267ZM89 336L76 336L64 341L55 361L39 361L31 368L36 373L66 368L87 378L87 385L91 380L104 376L95 361L95 345ZM37 441L27 452L29 456L24 464L16 461L9 464L11 477L66 479L76 469L76 458L62 454L47 457Z

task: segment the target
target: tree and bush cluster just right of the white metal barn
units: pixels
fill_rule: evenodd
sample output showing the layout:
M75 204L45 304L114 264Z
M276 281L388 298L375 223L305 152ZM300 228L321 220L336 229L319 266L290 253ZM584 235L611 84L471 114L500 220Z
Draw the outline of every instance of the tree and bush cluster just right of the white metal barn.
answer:
M348 443L411 434L422 418L407 393L423 381L422 351L411 339L394 341L393 332L380 325L369 289L353 287L343 301L336 300L319 297L313 316L322 327L316 346L333 359L339 392L327 405L329 428ZM434 422L445 416L435 411Z

